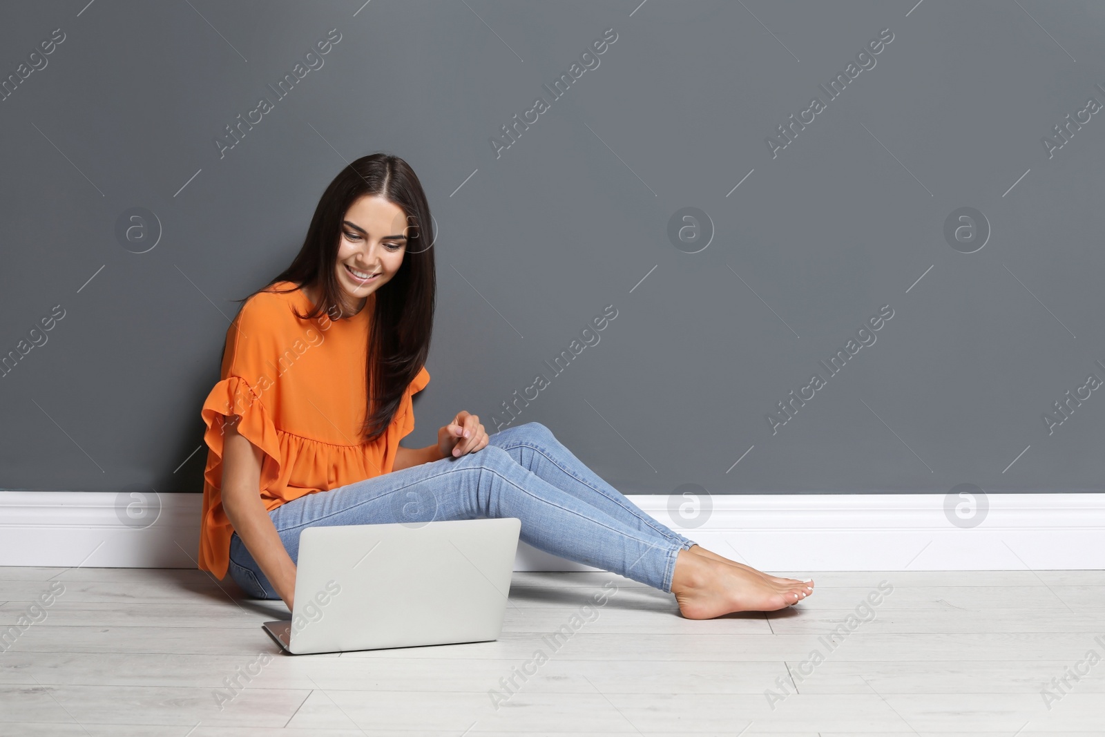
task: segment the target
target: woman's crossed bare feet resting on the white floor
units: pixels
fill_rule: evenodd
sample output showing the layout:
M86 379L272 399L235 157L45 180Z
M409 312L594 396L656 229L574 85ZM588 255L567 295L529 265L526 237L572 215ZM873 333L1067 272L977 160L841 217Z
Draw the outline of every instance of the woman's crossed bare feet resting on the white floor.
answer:
M672 577L672 593L687 619L713 619L730 612L776 611L801 601L804 583L779 587L757 571L680 550Z

